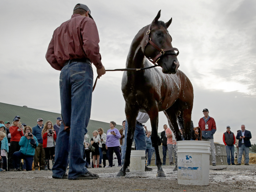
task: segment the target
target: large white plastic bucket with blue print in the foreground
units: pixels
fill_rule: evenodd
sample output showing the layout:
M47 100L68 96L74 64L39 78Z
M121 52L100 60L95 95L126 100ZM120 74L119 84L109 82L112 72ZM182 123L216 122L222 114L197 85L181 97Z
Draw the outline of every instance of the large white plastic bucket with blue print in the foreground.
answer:
M210 143L207 141L178 141L178 184L208 185Z

